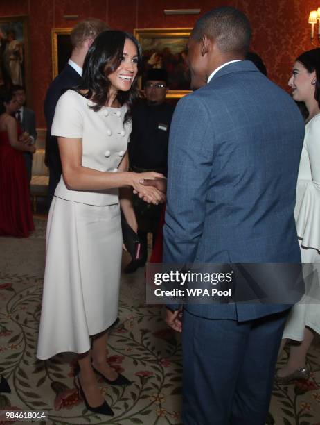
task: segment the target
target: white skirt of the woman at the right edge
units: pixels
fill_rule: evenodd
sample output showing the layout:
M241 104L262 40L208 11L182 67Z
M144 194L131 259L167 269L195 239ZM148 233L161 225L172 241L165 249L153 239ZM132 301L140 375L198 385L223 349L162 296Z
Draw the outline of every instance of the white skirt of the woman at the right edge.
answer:
M307 293L295 304L285 324L283 338L303 341L305 326L320 333L320 253L317 249L301 247L303 278Z

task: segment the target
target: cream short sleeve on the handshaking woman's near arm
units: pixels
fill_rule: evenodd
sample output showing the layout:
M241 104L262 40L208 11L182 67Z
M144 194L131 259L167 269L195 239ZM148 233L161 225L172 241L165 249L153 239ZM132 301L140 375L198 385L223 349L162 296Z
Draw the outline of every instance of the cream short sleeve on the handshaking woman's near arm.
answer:
M83 106L80 94L68 90L55 107L51 135L63 138L82 138Z

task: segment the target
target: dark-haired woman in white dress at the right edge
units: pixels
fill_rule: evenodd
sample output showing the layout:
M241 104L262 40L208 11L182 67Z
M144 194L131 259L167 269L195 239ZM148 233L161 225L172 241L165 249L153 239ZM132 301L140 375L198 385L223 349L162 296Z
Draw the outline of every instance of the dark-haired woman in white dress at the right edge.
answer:
M290 312L283 342L294 340L287 364L278 370L276 381L287 384L308 378L305 365L314 333L320 333L320 49L302 53L294 63L289 80L292 97L305 104L305 139L301 153L294 216L304 265L305 281L313 284L312 297L306 294ZM307 286L308 286L307 285Z

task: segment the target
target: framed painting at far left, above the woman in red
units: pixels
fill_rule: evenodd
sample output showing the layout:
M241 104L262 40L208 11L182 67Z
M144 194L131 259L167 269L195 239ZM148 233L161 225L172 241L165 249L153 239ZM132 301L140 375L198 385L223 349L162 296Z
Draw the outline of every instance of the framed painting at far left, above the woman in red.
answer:
M29 94L28 17L0 17L0 91L24 85Z

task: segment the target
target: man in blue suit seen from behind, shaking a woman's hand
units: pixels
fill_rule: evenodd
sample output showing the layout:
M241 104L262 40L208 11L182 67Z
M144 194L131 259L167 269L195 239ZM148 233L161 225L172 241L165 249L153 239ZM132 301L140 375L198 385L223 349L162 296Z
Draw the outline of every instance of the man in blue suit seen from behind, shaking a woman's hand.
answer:
M190 35L192 84L201 88L172 119L165 263L301 261L293 212L303 119L244 60L250 38L247 17L231 7L207 12ZM183 328L184 425L265 424L289 309L186 304L181 322L181 306L167 306L167 324Z

